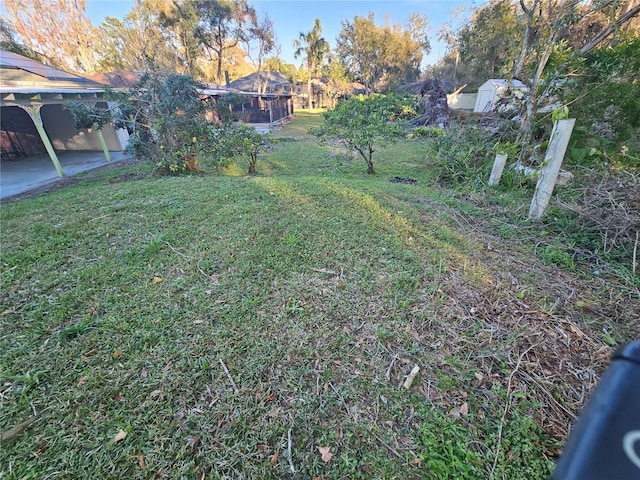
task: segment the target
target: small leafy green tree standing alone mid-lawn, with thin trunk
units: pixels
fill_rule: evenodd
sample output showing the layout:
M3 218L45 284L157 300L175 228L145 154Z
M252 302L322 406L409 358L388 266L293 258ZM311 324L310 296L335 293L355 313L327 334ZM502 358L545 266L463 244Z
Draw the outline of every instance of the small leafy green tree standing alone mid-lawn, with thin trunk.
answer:
M324 123L311 133L321 142L341 141L367 163L367 173L376 173L376 146L395 142L402 134L402 119L415 115L410 97L398 95L354 96L323 114Z

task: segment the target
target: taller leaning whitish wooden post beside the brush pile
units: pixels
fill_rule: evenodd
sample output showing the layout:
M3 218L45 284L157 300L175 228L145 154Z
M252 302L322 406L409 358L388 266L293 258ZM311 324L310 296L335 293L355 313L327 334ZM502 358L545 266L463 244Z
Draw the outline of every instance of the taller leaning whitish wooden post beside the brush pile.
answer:
M564 153L567 151L569 138L571 138L575 123L575 118L567 118L565 120L557 120L553 125L549 148L538 173L538 184L531 201L529 220L540 220L549 206L553 187L556 185Z

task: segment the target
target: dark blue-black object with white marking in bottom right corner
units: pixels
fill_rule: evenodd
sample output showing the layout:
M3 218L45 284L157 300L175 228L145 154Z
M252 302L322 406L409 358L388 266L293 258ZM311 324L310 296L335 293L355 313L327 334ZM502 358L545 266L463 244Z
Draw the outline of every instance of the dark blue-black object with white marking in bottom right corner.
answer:
M640 341L619 348L551 480L640 479Z

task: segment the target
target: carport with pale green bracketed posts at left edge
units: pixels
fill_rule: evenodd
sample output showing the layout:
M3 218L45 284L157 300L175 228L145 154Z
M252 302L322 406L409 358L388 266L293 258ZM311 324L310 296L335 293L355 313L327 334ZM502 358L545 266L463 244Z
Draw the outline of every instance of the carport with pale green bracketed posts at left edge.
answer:
M56 152L65 150L121 151L126 131L102 128L105 147L92 129L76 130L63 105L86 102L108 108L104 86L49 67L15 53L0 50L0 119L2 160L19 160L48 153L60 176Z

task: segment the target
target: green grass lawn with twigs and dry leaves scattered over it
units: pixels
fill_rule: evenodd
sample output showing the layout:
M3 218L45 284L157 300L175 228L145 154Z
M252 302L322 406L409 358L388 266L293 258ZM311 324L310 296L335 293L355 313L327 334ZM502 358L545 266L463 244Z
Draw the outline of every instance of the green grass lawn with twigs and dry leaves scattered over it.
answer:
M366 175L319 118L254 177L134 165L2 206L0 432L37 417L1 478L550 473L637 301L546 261L525 198L438 187L424 140Z

